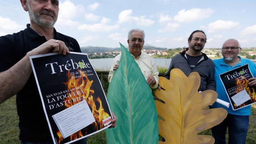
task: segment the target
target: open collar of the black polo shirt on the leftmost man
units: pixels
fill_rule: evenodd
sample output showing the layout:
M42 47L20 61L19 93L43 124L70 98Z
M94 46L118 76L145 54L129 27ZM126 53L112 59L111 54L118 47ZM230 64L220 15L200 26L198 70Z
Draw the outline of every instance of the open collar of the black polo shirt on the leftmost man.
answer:
M36 40L37 38L45 38L45 36L41 36L37 32L35 32L33 29L31 29L30 24L27 24L26 26L27 28L24 31L29 39ZM59 40L64 38L63 35L60 35L59 33L57 33L55 28L53 28L53 32L54 32L54 39Z

